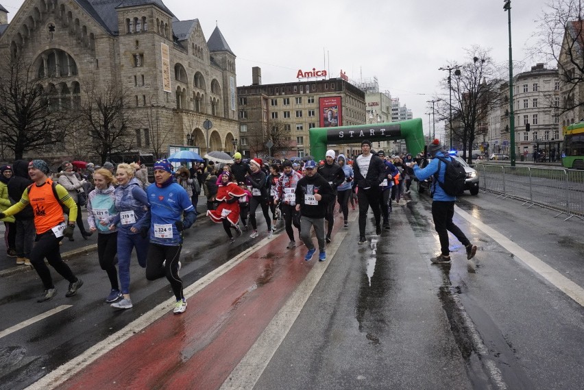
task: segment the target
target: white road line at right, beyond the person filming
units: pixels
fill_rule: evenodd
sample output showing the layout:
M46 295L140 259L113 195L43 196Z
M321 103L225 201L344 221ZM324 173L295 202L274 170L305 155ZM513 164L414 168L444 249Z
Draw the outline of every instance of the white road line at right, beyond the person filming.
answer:
M472 223L476 228L485 232L485 234L488 234L491 239L494 239L499 245L507 249L508 252L511 252L516 259L522 261L522 263L533 269L536 273L539 273L539 275L565 293L565 295L572 298L572 300L578 302L581 306L584 306L584 289L578 284L572 282L572 280L566 278L561 273L544 263L544 261L537 258L537 256L526 251L506 236L485 225L485 223L479 221L475 217L472 217L472 215L464 210L461 210L458 206L456 206L456 211L461 217Z

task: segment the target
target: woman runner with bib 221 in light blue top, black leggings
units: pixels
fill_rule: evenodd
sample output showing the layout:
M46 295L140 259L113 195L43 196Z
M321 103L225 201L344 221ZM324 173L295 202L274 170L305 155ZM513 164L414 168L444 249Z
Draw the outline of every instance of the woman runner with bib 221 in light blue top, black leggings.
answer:
M116 253L118 249L117 228L110 230L110 217L117 215L116 195L114 194L114 177L105 168L100 168L93 173L95 189L87 198L87 223L90 232L97 232L97 258L99 267L106 271L110 280L111 291L106 302L115 302L122 295L118 284L118 271L116 269Z

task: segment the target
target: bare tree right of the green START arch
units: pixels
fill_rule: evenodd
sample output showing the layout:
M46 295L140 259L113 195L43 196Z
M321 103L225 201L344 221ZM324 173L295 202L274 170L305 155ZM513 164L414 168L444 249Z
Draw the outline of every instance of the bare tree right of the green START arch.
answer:
M466 62L460 64L460 75L453 75L451 80L452 121L458 124L452 126L452 138L462 145L465 157L466 151L472 150L477 134L486 131L489 107L500 97L492 80L494 67L489 51L473 46L466 49L466 57ZM448 77L443 80L443 86L448 90ZM449 115L450 100L440 99L439 117L448 121ZM468 161L471 159L469 153Z

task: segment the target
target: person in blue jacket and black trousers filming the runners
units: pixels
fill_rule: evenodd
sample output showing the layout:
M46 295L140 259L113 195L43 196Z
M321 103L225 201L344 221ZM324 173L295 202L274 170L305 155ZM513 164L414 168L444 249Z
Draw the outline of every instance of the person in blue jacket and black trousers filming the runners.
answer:
M426 180L427 178L430 178L430 176L433 178L430 186L430 192L433 195L432 218L434 220L434 228L440 239L441 253L436 257L430 258L430 261L438 264L450 264L448 232L454 234L454 236L465 246L467 259L470 260L476 254L476 245L472 245L460 228L452 222L452 217L454 216L454 202L457 200L457 197L448 195L443 190L442 186L439 185L439 182L444 182L444 176L446 174L446 163L441 162L439 158L450 158L451 161L453 159L446 154L446 151L443 150L442 144L438 139L435 139L430 143L428 146L428 154L434 157L430 163L424 169L421 169L415 162L413 162L413 170L419 181Z

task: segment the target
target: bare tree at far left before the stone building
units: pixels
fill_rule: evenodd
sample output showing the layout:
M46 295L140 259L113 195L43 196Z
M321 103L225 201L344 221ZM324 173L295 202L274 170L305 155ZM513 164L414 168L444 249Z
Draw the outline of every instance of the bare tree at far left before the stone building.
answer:
M42 88L43 81L20 56L0 62L0 142L16 160L27 151L61 144L73 119L64 101Z

